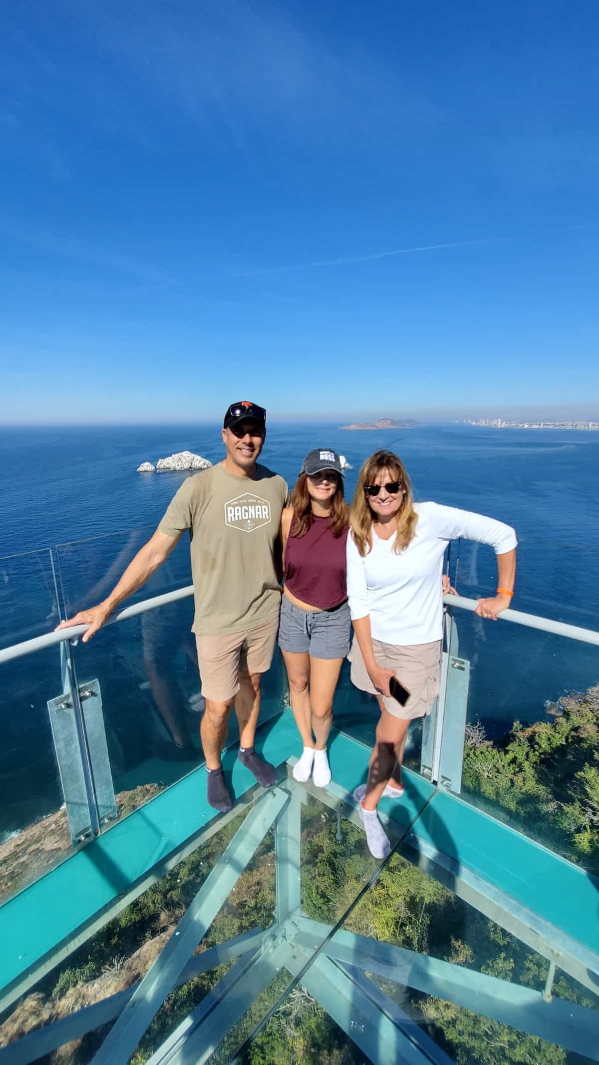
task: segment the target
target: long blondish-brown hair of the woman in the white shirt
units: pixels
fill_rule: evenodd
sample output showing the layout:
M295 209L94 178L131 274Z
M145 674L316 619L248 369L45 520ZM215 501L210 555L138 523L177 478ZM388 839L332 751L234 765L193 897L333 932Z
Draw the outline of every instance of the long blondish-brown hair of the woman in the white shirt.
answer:
M414 538L418 514L414 510L414 497L407 471L401 459L393 452L375 452L363 463L357 478L350 512L350 525L355 546L362 556L372 548L372 511L364 492L365 485L373 485L382 470L388 470L394 480L400 480L404 489L403 504L397 515L397 536L393 550L399 555Z

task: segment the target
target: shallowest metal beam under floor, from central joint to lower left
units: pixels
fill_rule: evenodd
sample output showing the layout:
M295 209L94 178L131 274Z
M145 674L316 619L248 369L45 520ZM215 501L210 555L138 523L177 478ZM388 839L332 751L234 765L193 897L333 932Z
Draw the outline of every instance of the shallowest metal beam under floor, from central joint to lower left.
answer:
M244 954L254 955L262 946L265 936L269 936L270 930L263 932L262 929L252 929L242 935L228 939L217 947L202 951L189 958L179 980L174 984L180 987L186 984L194 977L201 976L202 972L210 972L217 965L231 962ZM70 1013L67 1017L62 1017L44 1028L38 1028L35 1032L24 1035L16 1043L11 1043L7 1047L0 1049L0 1065L29 1065L45 1054L57 1050L65 1043L71 1039L81 1039L87 1032L93 1032L96 1028L101 1028L109 1021L118 1017L129 1000L134 995L138 984L133 984L116 995L101 999L93 1005L86 1005L77 1013Z

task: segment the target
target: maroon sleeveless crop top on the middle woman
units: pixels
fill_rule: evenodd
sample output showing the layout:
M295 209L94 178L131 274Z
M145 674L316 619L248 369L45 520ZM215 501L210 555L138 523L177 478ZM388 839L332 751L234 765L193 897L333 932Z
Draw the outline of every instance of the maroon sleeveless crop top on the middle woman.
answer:
M296 517L285 550L285 584L292 595L332 610L347 600L346 542L348 529L334 537L328 518L312 515L312 525L304 536L293 536Z

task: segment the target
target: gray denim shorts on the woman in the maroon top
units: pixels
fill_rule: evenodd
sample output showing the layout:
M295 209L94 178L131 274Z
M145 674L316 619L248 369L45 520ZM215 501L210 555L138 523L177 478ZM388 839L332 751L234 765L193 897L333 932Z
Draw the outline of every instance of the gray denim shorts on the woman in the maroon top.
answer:
M332 610L302 610L283 595L279 624L281 651L313 658L345 658L349 652L351 618L348 603Z

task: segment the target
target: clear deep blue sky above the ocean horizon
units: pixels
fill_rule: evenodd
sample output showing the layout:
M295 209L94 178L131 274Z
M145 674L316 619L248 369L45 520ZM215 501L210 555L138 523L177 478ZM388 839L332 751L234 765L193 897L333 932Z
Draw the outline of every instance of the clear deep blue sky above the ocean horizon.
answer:
M3 13L4 422L599 415L595 0Z

